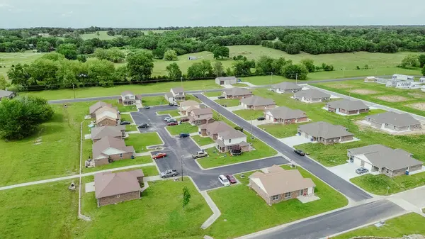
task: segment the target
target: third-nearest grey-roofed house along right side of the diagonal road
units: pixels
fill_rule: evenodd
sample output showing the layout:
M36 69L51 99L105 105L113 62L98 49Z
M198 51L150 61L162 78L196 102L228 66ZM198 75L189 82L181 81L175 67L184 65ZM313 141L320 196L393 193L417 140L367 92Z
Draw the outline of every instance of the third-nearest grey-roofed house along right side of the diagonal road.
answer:
M264 117L266 118L266 121L270 121L270 123L289 124L308 121L307 115L304 111L299 109L289 109L285 106L264 111Z

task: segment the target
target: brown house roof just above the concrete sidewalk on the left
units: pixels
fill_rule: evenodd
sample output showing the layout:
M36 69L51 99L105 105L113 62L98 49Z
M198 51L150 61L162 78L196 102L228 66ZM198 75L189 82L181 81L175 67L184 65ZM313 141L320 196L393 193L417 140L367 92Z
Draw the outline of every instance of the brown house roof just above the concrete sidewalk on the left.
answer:
M94 159L106 157L107 155L133 152L134 150L132 146L125 146L124 140L111 136L106 136L92 145Z

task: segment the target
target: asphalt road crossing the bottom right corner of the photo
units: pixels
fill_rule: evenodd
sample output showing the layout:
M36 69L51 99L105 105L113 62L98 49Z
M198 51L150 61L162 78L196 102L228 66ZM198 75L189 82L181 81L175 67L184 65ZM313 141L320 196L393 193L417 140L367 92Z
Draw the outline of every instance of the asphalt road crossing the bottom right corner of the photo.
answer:
M318 239L326 238L351 228L380 221L404 213L404 209L387 200L373 201L368 204L354 206L341 211L335 211L323 216L295 223L293 225L264 230L246 235L242 238L261 239Z

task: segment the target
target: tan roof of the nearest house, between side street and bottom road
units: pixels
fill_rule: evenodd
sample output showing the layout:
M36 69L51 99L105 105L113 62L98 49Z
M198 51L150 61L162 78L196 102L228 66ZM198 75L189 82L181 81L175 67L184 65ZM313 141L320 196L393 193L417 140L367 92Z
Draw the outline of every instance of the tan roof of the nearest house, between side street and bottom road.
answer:
M296 169L271 169L266 174L255 172L249 178L252 179L252 182L259 185L268 196L285 194L290 191L298 191L316 186L312 179L302 177Z

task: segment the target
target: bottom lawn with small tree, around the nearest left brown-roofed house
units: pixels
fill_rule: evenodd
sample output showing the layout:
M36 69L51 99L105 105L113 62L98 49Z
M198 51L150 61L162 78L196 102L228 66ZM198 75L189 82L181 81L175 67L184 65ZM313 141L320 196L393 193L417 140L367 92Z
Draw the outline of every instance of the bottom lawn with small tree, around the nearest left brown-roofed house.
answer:
M92 182L93 177L84 180ZM191 201L185 209L181 201L183 187L191 192ZM183 182L149 182L140 200L101 208L97 208L91 192L83 195L82 206L83 213L92 221L76 230L79 238L202 238L205 231L200 225L212 215L188 178Z

